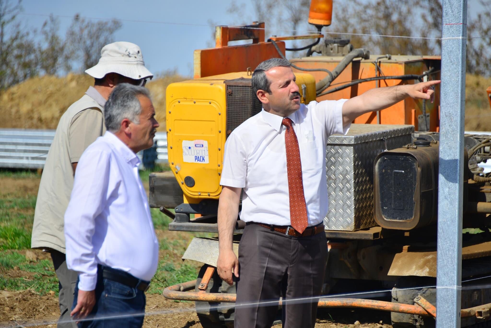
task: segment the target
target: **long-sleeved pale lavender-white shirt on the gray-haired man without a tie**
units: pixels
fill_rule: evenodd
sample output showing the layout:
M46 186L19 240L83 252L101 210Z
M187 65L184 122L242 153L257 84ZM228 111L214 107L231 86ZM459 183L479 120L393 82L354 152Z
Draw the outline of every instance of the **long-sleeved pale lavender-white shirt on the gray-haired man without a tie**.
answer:
M66 263L79 273L79 289L91 291L97 264L149 281L157 271L155 236L140 160L107 131L82 154L65 212Z

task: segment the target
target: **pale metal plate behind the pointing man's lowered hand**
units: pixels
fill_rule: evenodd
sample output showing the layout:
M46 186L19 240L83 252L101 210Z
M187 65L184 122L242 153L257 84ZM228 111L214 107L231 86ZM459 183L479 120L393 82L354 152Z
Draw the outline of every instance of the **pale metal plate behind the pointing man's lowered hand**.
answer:
M232 248L235 256L239 257L239 242L233 242ZM193 238L186 252L184 252L182 259L197 261L216 267L218 260L218 239Z

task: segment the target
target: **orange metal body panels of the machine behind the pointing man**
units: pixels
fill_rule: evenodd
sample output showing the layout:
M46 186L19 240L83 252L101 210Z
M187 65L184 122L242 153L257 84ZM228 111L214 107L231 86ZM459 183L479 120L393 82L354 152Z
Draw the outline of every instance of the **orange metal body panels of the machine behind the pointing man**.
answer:
M254 22L252 25L245 26L217 26L216 27L216 48L194 50L194 78L214 76L231 72L253 71L259 63L266 59L279 57L277 50L271 42L265 41L264 23ZM290 40L298 38L317 38L319 34L298 35L288 37L272 37L276 45L285 54L285 43L280 40ZM240 46L228 46L229 41L252 39L252 44ZM348 83L351 80L378 76L375 67L375 59L378 55L371 55L370 59L356 59L350 63L345 70L331 83L327 90ZM342 56L311 56L304 58L295 58L290 61L302 68L323 68L333 71ZM407 74L421 75L434 67L437 71L440 66L440 56L410 56L410 55L393 55L391 59L382 59L379 62L382 74L385 76L401 76ZM294 68L295 72L302 72ZM326 76L325 72L316 71L308 72L314 76L316 82ZM434 73L430 79L439 79L440 74ZM417 81L416 81L417 82ZM354 86L339 90L325 96L317 98L322 100L349 99L363 92L384 86L393 86L398 84L414 83L414 80L380 80L362 82ZM431 103L426 101L426 113L430 115L429 130L438 131L440 125L439 115L439 85L435 88L435 101ZM488 91L489 93L491 92ZM491 104L491 99L490 99ZM406 99L387 109L380 111L381 124L410 124L418 130L418 118L423 117L423 102ZM368 113L358 117L354 123L377 124L377 113Z

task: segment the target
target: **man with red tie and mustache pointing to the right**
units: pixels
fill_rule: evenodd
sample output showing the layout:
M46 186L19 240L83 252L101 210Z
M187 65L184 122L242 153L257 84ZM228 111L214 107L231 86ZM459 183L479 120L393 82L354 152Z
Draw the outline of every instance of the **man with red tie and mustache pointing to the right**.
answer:
M277 304L260 303L280 296L314 297L283 303L282 319L285 328L315 326L327 257L327 137L346 134L356 117L406 97L430 99L437 83L376 88L350 100L305 105L287 60L257 66L252 88L263 110L227 139L218 204L217 269L223 280L237 284L236 328L271 327ZM232 235L241 190L246 227L237 259Z

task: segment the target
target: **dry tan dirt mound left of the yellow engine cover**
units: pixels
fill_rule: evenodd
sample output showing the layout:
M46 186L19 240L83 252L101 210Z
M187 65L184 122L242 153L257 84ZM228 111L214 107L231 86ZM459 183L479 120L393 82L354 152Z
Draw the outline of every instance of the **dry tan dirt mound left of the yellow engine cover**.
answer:
M179 75L161 76L147 84L160 131L165 130L165 88L184 79ZM65 110L93 84L94 79L86 74L38 76L19 83L0 94L0 127L55 129Z

